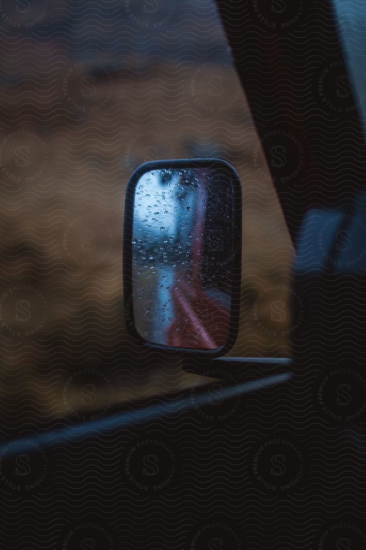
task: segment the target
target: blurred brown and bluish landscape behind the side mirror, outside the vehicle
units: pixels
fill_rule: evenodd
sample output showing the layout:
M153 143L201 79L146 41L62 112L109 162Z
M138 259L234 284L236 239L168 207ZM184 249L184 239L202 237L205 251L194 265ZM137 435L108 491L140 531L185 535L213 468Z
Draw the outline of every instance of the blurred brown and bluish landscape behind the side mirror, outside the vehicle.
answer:
M3 0L0 23L5 423L74 421L192 383L176 357L147 360L123 319L125 190L150 160L218 157L238 171L230 354L289 356L292 246L213 2Z

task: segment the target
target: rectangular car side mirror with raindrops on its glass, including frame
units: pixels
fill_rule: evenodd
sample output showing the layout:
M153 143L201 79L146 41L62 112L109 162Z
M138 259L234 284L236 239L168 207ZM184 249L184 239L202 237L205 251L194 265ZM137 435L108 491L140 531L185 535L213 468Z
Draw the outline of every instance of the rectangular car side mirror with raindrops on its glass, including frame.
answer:
M127 187L126 326L142 343L220 356L238 334L241 184L216 159L148 162Z

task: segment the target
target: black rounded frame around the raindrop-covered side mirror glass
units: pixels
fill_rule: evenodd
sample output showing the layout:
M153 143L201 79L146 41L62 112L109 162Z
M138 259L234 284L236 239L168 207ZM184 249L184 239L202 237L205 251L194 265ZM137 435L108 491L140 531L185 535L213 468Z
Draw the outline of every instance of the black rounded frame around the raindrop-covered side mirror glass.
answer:
M163 344L153 344L144 340L136 329L133 315L133 290L132 290L132 231L133 231L133 208L134 208L134 191L139 178L146 172L153 169L169 169L169 168L219 168L227 172L233 182L233 199L234 199L234 219L233 219L233 278L232 278L232 294L231 294L231 310L230 310L230 328L229 337L221 348L216 350L198 350L188 348L173 348ZM129 178L126 189L125 202L125 218L123 223L123 310L125 313L126 328L131 337L138 343L150 348L165 349L170 351L178 351L186 356L208 355L212 358L221 357L235 344L239 331L239 315L240 315L240 290L241 290L241 241L242 241L242 194L241 182L238 173L226 161L218 158L197 158L197 159L180 159L180 160L165 160L151 161L139 166ZM130 300L130 304L126 307L126 299Z

